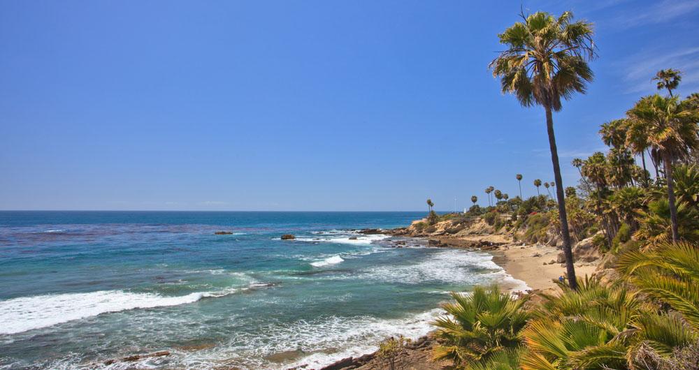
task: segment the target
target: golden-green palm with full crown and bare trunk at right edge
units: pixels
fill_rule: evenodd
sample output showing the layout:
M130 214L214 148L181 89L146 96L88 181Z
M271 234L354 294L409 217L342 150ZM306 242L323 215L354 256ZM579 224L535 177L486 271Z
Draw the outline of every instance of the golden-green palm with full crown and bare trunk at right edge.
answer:
M677 242L677 206L672 184L672 162L699 147L697 128L699 110L679 103L677 97L664 98L658 94L642 98L627 112L648 127L648 142L663 158L668 202L672 221L672 240Z

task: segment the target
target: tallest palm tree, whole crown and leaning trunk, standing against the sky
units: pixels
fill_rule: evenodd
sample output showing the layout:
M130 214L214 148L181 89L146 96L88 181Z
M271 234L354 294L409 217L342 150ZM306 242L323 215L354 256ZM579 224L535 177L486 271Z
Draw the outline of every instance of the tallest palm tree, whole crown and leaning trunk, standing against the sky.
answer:
M493 76L500 76L503 92L517 96L521 105L542 105L546 112L546 127L551 149L551 161L556 179L556 197L563 235L563 252L568 278L576 287L575 267L570 248L568 216L565 213L565 195L559 154L556 149L553 112L562 108L561 99L569 99L579 92L584 94L586 83L593 73L587 62L595 57L592 24L572 22L573 15L564 12L560 17L545 12L525 16L498 35L507 50L491 62Z

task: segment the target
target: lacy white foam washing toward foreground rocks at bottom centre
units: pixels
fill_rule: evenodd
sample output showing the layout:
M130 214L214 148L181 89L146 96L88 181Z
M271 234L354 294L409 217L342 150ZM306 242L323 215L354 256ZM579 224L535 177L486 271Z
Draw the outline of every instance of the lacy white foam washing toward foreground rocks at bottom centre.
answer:
M430 322L444 313L442 309L432 309L394 319L324 316L275 323L262 332L232 333L228 342L208 350L174 353L169 365L187 369L319 369L346 357L372 353L390 336L403 335L410 339L424 336L434 330ZM291 358L281 362L271 360L280 353Z

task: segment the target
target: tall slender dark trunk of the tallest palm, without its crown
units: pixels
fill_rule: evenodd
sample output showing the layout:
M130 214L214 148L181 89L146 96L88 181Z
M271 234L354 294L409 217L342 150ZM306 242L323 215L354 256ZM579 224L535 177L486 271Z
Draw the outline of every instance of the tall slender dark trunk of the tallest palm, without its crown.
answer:
M565 213L565 195L563 194L563 179L561 178L561 165L559 164L559 152L556 149L556 135L554 135L554 117L551 108L546 106L546 128L549 134L549 147L551 147L551 162L554 165L554 179L556 181L556 198L559 201L559 219L561 219L561 235L563 236L563 254L565 255L565 268L568 273L568 284L572 290L577 290L575 266L573 266L572 249L570 248L570 232L568 232L568 215Z

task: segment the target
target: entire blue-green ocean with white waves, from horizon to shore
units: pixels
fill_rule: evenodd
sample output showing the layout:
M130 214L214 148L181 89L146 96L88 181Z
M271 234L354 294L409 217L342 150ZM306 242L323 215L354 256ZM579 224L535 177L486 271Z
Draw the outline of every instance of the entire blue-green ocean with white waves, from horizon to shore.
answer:
M521 288L487 253L354 231L421 216L0 212L0 369L317 368L426 334L449 291Z

